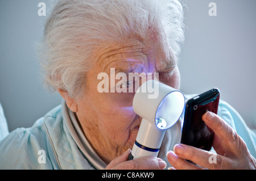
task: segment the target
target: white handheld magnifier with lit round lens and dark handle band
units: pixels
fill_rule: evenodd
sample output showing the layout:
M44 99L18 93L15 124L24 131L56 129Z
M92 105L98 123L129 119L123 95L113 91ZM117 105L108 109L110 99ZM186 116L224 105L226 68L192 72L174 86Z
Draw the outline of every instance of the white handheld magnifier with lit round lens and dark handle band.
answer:
M154 89L148 91L148 85ZM157 96L152 90L158 91ZM133 99L133 110L142 121L129 159L157 157L166 130L179 120L184 105L181 91L155 80L144 82Z

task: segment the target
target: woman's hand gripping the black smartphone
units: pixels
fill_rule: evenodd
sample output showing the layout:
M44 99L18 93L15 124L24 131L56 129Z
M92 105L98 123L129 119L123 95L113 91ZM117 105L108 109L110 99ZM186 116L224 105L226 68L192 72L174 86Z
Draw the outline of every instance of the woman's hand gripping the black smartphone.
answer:
M220 116L206 112L202 119L214 131L213 148L217 154L193 146L175 145L174 151L167 153L171 169L256 169L256 160L245 142Z

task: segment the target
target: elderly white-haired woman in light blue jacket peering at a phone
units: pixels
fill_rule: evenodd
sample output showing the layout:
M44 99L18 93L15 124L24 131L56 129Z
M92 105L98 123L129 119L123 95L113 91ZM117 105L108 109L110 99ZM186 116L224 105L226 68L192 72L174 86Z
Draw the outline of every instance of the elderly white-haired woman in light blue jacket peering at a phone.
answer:
M63 102L0 142L0 169L255 169L255 134L223 101L218 115L203 115L215 132L216 162L208 151L179 144L182 120L166 132L158 158L129 161L142 120L132 107L135 90L99 91L98 75L158 73L160 82L179 89L183 39L177 0L58 2L40 50L46 85ZM123 80L121 87L133 90L133 83Z

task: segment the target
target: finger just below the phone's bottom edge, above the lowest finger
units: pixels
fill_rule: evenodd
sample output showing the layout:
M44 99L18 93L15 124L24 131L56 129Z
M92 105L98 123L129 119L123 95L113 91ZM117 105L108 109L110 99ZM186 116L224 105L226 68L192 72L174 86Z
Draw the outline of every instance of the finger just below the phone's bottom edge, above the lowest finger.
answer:
M175 145L174 151L178 157L208 169L222 169L230 162L229 158L184 144Z

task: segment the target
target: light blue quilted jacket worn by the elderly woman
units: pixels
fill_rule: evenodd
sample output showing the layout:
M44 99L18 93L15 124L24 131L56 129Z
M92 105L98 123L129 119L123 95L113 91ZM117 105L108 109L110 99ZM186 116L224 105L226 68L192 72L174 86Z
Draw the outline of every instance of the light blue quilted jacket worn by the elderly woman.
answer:
M256 135L237 111L221 100L218 115L237 131L255 158ZM0 141L0 169L104 169L105 163L76 127L74 119L63 101L31 128L18 128L8 134ZM182 119L165 134L159 157L167 164L167 151L180 142L181 125Z

